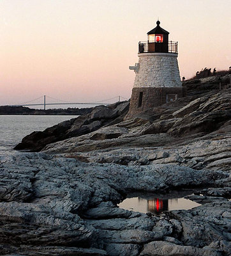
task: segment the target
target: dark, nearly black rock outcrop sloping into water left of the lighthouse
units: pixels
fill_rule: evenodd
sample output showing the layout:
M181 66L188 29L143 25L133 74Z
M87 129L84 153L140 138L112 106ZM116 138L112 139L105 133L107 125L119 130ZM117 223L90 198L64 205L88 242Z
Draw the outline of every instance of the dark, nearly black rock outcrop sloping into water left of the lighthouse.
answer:
M117 102L108 107L97 106L87 115L64 121L42 132L32 132L23 138L22 142L14 149L37 152L50 143L81 136L96 131L105 125L116 124L123 120L123 116L127 113L128 108L129 102Z

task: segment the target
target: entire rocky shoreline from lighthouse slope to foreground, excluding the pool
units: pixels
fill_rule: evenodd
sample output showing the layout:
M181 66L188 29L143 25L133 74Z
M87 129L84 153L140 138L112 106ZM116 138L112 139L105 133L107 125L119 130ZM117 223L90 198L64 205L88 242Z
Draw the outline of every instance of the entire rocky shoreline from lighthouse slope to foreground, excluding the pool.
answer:
M230 255L231 90L188 86L133 118L129 102L94 108L17 146L41 152L1 157L0 255ZM188 188L190 210L117 207Z

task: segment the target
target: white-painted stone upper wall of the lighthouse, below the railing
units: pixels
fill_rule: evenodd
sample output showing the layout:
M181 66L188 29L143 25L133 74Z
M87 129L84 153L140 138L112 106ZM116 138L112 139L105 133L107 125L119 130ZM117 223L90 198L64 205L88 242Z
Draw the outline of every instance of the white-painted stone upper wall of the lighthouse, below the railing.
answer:
M135 72L133 88L182 87L176 53L138 54L138 68Z

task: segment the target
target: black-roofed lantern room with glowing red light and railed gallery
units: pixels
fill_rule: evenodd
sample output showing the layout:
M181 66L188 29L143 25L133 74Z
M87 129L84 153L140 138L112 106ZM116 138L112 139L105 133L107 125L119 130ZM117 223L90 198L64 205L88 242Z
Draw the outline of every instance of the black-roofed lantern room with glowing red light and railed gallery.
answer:
M169 32L161 28L160 21L156 28L147 32L147 42L139 42L138 52L174 52L177 53L177 42L168 42Z

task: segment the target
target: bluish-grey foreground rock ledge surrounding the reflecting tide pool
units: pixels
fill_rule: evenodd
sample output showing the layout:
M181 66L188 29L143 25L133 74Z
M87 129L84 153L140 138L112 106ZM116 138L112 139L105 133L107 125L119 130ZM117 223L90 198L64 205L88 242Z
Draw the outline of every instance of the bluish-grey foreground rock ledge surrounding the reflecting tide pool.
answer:
M0 255L229 255L227 172L28 153L1 157L0 175ZM116 206L131 191L187 186L209 187L194 198L202 206L161 216Z

